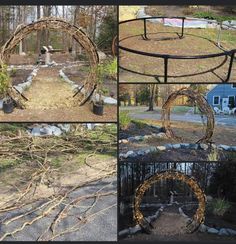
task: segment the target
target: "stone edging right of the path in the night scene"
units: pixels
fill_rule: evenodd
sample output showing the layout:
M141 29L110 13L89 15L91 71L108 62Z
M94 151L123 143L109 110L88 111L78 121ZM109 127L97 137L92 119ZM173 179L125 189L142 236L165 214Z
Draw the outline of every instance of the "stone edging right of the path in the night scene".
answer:
M184 206L184 205L183 205ZM182 206L182 207L183 207ZM185 217L190 219L182 210L181 207L179 207L179 213ZM230 228L220 228L220 229L216 229L216 228L211 228L205 224L201 224L198 228L199 232L202 233L208 233L208 234L216 234L219 236L236 236L236 230L230 229Z

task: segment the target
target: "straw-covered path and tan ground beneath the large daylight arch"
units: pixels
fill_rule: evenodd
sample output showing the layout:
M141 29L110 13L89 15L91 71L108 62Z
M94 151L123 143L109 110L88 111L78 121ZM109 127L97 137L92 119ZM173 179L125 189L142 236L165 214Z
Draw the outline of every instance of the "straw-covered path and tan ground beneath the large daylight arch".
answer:
M11 55L11 63L19 65L24 63L25 56ZM53 54L52 60L56 62L70 61L68 54ZM32 60L31 60L32 62ZM32 64L32 63L31 63ZM74 69L69 63L64 63L68 68L67 70ZM79 96L73 97L74 92L69 84L59 77L59 70L64 67L59 65L56 67L40 67L37 76L33 79L32 85L23 95L28 99L24 101L25 109L15 108L13 113L4 114L0 111L0 121L2 122L84 122L84 121L98 121L98 122L115 122L117 119L117 107L113 105L104 106L104 114L102 116L95 115L92 112L92 104L86 103L79 106ZM80 74L80 67L77 71L76 77ZM16 70L12 77L14 85L23 82L31 70ZM88 71L82 73L80 79L75 77L77 84L81 84L86 78ZM107 87L113 91L117 96L116 81L107 81ZM106 86L106 85L105 85ZM111 87L111 88L110 88Z

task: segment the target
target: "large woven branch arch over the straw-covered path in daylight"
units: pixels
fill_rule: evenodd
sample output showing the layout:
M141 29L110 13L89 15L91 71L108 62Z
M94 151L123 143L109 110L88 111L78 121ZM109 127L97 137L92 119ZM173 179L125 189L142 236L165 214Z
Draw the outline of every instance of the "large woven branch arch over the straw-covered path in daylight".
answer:
M66 32L67 34L72 36L73 39L78 42L88 54L91 69L88 77L82 85L84 89L83 93L81 93L82 98L80 100L80 105L83 105L89 100L89 98L92 96L93 92L96 89L96 68L99 63L99 57L95 44L88 37L88 35L76 25L73 25L60 18L48 17L39 19L36 22L32 22L28 25L18 26L11 38L1 48L0 66L8 62L11 52L22 39L26 38L33 31L39 31L43 29L52 29L58 30L60 32ZM80 91L82 91L82 89L80 89Z

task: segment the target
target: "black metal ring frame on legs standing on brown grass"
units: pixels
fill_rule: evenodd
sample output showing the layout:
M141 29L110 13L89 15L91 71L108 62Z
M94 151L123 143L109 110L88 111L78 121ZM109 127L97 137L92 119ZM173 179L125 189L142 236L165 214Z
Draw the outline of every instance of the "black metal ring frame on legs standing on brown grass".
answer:
M144 18L137 18L137 19L129 19L129 20L125 20L125 21L121 21L119 22L119 26L127 23L127 22L133 22L133 21L143 21L143 34L141 34L142 38L144 40L149 40L149 38L147 37L147 20L149 19L163 19L163 22L165 19L181 19L182 20L182 27L181 27L181 33L176 33L179 37L179 39L184 38L184 35L190 35L190 34L185 34L184 33L184 28L185 28L185 20L193 20L193 18L186 18L186 17L167 17L167 16L158 16L158 17L144 17ZM196 20L196 19L194 19ZM206 22L210 22L212 23L212 20L207 20L207 19L199 19L201 21L206 21ZM227 26L230 27L231 29L235 29L235 27L226 25L226 24L222 24L219 22L214 21L214 23L216 23L219 26L219 30L218 30L218 35L217 35L217 41L214 42L210 39L207 39L210 42L213 42L219 49L221 49L223 52L220 53L213 53L213 54L206 54L206 55L192 55L192 56L188 56L188 55L169 55L169 54L159 54L159 53L150 53L150 52L145 52L145 51L138 51L132 48L127 48L124 47L122 45L120 45L120 42L122 42L124 39L127 39L129 37L133 37L133 36L129 36L126 37L124 39L119 40L119 50L124 50L130 53L134 53L134 54L138 54L138 55L142 55L142 56L149 56L149 57L156 57L156 58L163 58L163 63L164 63L164 74L163 75L152 75L152 74L144 74L142 72L138 72L138 71L134 71L132 69L128 69L125 68L121 65L119 65L119 68L135 73L135 74L139 74L139 75L143 75L143 76L149 76L149 77L154 77L158 82L160 82L159 77L164 77L164 83L168 83L168 77L172 77L172 78L177 78L177 77L186 77L186 76L194 76L194 75L199 75L199 74L204 74L207 72L213 72L214 70L218 69L219 67L221 67L228 59L228 57L230 58L230 62L229 62L229 67L228 67L228 72L227 72L227 77L225 80L222 80L222 82L228 82L230 80L230 76L231 76L231 71L232 71L232 66L233 66L233 61L235 58L235 53L236 53L236 49L232 49L232 50L225 50L221 44L220 44L220 34L221 34L221 30L222 30L222 26ZM119 27L120 28L120 27ZM154 33L151 33L154 34ZM156 33L155 33L156 34ZM199 37L199 36L198 36ZM202 37L203 38L203 37ZM195 73L195 74L190 74L190 75L180 75L180 76L169 76L168 75L168 61L169 59L182 59L182 60L187 60L187 59L208 59L208 58L215 58L215 57L221 57L224 56L225 59L223 60L223 62L220 65L217 65L214 68L211 68L205 72L199 72L199 73Z

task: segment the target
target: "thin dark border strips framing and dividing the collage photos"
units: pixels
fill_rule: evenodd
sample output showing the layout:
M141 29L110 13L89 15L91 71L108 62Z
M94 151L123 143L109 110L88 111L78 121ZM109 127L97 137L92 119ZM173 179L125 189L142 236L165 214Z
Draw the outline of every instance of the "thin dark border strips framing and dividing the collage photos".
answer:
M40 5L116 5L117 6L117 23L119 23L119 6L120 5L190 5L190 4L197 4L197 5L236 5L236 3L233 0L159 0L159 1L155 1L155 0L67 0L66 4L65 4L65 0L57 0L57 1L53 1L53 0L41 0L41 1L37 1L37 0L21 0L21 1L14 1L14 0L0 0L0 5L38 5L40 2ZM117 34L118 34L118 40L119 40L119 25L117 25ZM117 47L118 48L118 47ZM117 60L117 99L119 99L119 58ZM232 82L228 82L227 84L231 84ZM130 83L130 82L122 82L122 85L125 84L156 84L156 82L148 82L148 83L142 83L142 82L134 82L134 83ZM170 83L171 84L171 83ZM173 84L173 83L172 83ZM188 84L188 83L174 83L174 84ZM207 83L198 83L198 84L207 84ZM212 83L214 84L214 83ZM26 122L26 123L39 123L40 121L34 121L34 122ZM50 123L56 123L55 122L50 122ZM11 123L9 122L1 122L0 123ZM14 123L23 123L23 122L14 122ZM46 122L43 122L46 123ZM49 124L50 124L49 123ZM63 123L97 123L95 121L86 121L86 122L69 122L69 121L65 121ZM119 203L119 199L118 199L118 182L119 182L119 171L120 171L120 167L119 167L119 103L117 103L117 121L107 121L107 122L98 122L101 124L116 124L117 125L117 241L107 241L107 242L99 242L99 243L118 243L118 242L124 242L127 243L129 241L123 241L123 240L119 240L118 237L118 215L119 215L119 208L118 208L118 203ZM160 163L162 162L166 162L166 161L159 161ZM178 162L183 162L183 161L175 161L176 163ZM189 162L189 161L188 161ZM190 162L197 162L197 161L190 161ZM204 161L202 161L203 163ZM218 161L216 161L218 162ZM221 161L222 163L226 162L226 161ZM201 162L200 162L201 163ZM236 162L235 162L236 163ZM78 242L78 241L76 241ZM83 242L82 242L83 243ZM86 241L86 243L98 243L98 241ZM147 243L146 241L139 241L138 243ZM148 243L156 243L156 241L148 241ZM166 242L158 242L158 243L166 243ZM174 241L174 242L167 242L167 243L181 243L178 241ZM191 241L186 241L186 243L192 243ZM207 243L206 242L197 242L197 243ZM229 243L228 241L222 241L219 243Z

